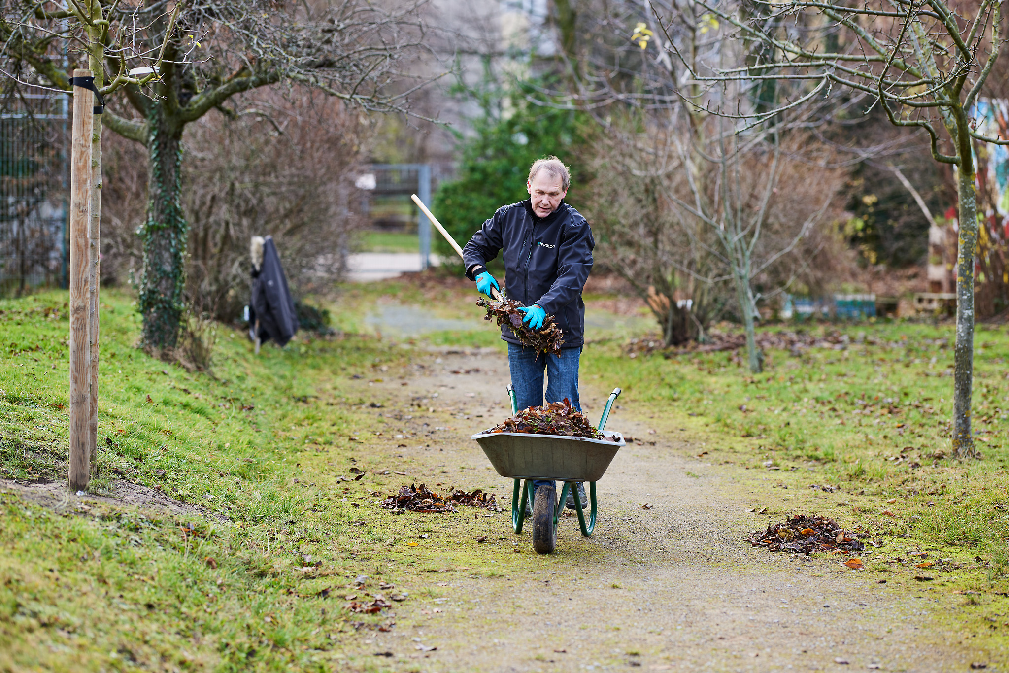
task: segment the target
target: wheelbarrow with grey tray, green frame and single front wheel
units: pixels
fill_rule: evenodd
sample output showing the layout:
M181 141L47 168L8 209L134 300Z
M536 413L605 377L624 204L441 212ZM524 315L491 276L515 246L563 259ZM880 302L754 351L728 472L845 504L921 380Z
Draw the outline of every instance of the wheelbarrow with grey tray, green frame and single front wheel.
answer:
M511 383L508 394L512 402L512 413L519 413L515 388ZM598 430L607 438L604 440L518 432L484 431L473 435L472 438L483 449L497 473L515 479L512 489L512 526L517 534L522 533L525 523L526 500L532 498L533 548L537 553L551 554L556 548L557 522L569 490L574 492L575 512L581 534L585 537L592 534L597 512L595 482L606 471L620 448L625 446L624 437L620 433L604 430L609 410L620 395L621 389L613 388L602 410ZM533 481L537 479L563 481L560 498L556 497L556 489L549 485L540 486L535 493L530 492ZM585 520L581 498L577 494L575 484L579 481L588 482L588 521Z

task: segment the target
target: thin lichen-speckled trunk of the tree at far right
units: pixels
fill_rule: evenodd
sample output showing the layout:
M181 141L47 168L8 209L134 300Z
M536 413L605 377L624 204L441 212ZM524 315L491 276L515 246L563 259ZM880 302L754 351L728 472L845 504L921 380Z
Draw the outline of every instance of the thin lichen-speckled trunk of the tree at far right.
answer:
M970 147L968 141L968 147ZM974 458L971 391L974 381L974 256L978 246L978 196L974 160L961 154L957 171L960 236L957 250L957 345L954 348L952 448L958 458Z

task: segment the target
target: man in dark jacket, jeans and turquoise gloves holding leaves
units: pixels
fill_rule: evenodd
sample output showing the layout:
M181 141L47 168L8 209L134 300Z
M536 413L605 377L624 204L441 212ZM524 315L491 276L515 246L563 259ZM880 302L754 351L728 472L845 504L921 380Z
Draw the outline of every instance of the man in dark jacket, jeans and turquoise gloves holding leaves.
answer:
M508 327L501 338L509 346L509 369L519 409L543 405L544 368L547 372L548 403L565 398L581 411L578 397L578 359L585 333L585 303L581 291L592 268L595 240L585 218L564 203L571 176L556 157L535 161L526 187L529 199L501 206L483 223L463 248L466 276L476 282L479 292L489 295L498 288L487 271L486 262L500 252L504 259L504 285L509 297L525 305L523 322L537 329L552 314L564 331L560 356L524 348ZM537 481L536 487L552 481ZM582 503L584 487L578 484ZM574 509L573 495L567 506Z

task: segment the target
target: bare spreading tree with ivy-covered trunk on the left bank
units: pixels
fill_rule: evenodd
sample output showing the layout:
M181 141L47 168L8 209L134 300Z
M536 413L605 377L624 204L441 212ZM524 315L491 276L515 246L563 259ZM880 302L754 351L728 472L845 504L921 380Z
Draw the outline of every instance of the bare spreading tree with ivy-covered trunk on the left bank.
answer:
M423 0L12 0L0 16L4 73L70 91L86 62L113 105L96 116L148 153L147 214L139 233L143 341L175 345L183 310L188 228L181 205L183 131L239 93L281 82L318 89L363 110L409 113L423 84ZM92 218L100 208L100 144ZM97 231L97 225L94 227ZM97 261L97 260L96 260Z

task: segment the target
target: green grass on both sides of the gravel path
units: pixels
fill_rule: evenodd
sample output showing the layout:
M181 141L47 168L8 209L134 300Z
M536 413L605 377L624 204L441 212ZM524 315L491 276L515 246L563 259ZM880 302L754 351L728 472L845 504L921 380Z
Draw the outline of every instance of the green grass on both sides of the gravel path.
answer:
M131 298L106 292L102 449L91 490L107 493L129 481L202 509L169 516L102 502L43 507L0 492L0 670L356 668L341 659L346 634L388 618L352 614L344 600L325 597L326 589L343 593L353 577L367 574L423 592L431 589L425 571L432 569L499 573L523 565L513 554L512 565L483 565L475 543L417 538L430 532L432 539L473 539L472 519L419 520L351 507L401 483L372 469L395 469L396 451L386 455L375 436L395 421L365 413L387 399L380 384L363 383L406 375L412 350L404 345L500 347L496 330L472 306L470 285L422 283L345 286L332 304L341 337L299 338L284 350L267 345L259 357L240 330L219 327L213 375L135 349L139 319ZM66 478L65 298L0 302L5 478ZM364 317L383 302L423 306L473 328L412 344L379 340L364 329ZM805 329L825 335L835 328ZM917 584L909 573L921 571L904 548L954 559L962 569L930 569L930 586L985 591L980 600L968 598L984 626L985 614L1006 607L992 591L1009 588L1009 335L979 327L975 429L987 441L979 442L983 460L961 463L949 456L948 441L952 327L836 329L849 336L847 348L771 350L758 375L731 351L654 350L632 358L616 329L585 348L583 398L622 386L621 406L652 417L661 436L686 440L685 450L700 454L698 464L743 468L738 473L749 480L742 487L774 519L828 514L887 542L866 559L865 572L881 573L890 585ZM350 384L354 376L361 385ZM367 478L337 481L351 464L367 468ZM484 487L471 472L460 472L457 479L470 482L457 485ZM762 525L755 520L755 530ZM419 546L408 547L408 540ZM969 567L975 570L963 570Z

